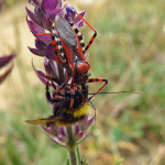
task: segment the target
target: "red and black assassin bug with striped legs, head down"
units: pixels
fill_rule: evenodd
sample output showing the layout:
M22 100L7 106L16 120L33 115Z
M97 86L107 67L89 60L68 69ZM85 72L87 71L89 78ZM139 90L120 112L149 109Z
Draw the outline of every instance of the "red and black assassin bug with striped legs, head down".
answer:
M55 22L52 25L52 33L36 34L51 35L56 61L67 70L67 80L58 89L56 89L55 98L58 98L59 90L72 78L69 108L73 108L74 105L76 84L84 86L86 82L105 81L105 84L89 99L94 98L108 84L108 80L105 78L89 78L90 74L88 70L90 65L85 59L85 53L97 36L97 32L82 16L78 13L77 15L95 32L86 47L82 34L78 31L78 29L74 24L69 24L59 15L55 18Z

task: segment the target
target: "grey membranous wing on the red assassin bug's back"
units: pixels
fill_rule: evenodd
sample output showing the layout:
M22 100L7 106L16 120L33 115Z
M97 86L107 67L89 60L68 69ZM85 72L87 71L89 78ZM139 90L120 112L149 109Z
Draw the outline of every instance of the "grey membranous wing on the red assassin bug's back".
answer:
M55 18L57 24L57 30L61 37L66 42L69 47L77 47L76 35L72 30L70 24L62 16L57 15Z

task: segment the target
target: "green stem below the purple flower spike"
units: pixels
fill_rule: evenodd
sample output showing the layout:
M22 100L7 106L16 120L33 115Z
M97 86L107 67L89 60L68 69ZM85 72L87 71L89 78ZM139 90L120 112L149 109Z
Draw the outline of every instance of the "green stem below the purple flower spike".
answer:
M78 165L78 156L76 152L76 143L73 136L73 128L67 127L67 134L68 134L68 156L70 165Z

